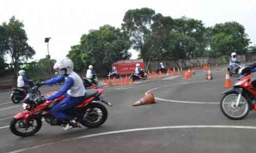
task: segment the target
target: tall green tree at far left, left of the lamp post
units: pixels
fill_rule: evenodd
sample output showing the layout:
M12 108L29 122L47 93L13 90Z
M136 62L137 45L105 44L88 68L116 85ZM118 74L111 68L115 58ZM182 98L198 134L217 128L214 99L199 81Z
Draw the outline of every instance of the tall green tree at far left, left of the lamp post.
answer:
M24 30L23 22L12 16L8 24L6 22L3 23L3 27L8 38L6 42L8 47L4 49L4 52L11 57L14 70L17 73L19 63L31 59L35 54L35 50L27 43L28 37Z

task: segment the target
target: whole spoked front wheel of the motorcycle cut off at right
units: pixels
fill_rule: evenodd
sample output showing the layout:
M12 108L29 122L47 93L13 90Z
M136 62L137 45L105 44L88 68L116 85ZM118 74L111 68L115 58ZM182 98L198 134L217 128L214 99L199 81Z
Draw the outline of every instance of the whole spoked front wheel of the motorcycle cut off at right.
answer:
M238 120L245 118L250 112L250 105L248 98L241 95L239 106L236 107L238 93L228 93L221 98L221 111L229 119Z

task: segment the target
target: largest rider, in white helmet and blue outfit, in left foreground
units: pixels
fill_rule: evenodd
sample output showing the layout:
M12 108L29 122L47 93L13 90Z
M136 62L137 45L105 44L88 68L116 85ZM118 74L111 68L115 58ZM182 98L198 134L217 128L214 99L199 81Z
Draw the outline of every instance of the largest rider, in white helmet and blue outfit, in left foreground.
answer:
M73 127L78 127L78 124L72 117L67 116L64 112L82 103L86 89L83 86L82 79L73 71L74 63L70 58L65 58L59 63L55 63L54 68L58 70L58 73L60 74L59 77L38 83L37 85L56 84L64 80L65 84L57 93L46 99L42 98L41 101L54 100L62 95L66 95L65 99L51 108L50 113L64 123L63 130L70 130Z

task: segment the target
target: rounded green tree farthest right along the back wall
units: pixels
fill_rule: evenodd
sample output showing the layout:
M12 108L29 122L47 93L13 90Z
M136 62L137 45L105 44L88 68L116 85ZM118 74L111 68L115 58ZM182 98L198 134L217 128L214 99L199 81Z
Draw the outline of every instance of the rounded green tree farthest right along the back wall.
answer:
M211 36L210 48L215 56L230 55L232 52L245 54L250 43L244 26L238 22L216 24L211 29Z

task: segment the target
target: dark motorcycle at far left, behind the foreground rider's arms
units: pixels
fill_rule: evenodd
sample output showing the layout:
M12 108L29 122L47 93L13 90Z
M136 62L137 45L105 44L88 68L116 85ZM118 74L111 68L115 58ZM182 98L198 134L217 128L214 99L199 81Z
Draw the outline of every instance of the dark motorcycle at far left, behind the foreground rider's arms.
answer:
M31 95L31 98L33 99L41 96L39 88L33 83L33 81L29 83L29 86L30 88L28 89L28 91L18 87L13 88L13 91L11 93L12 103L18 104L26 97L28 93Z

